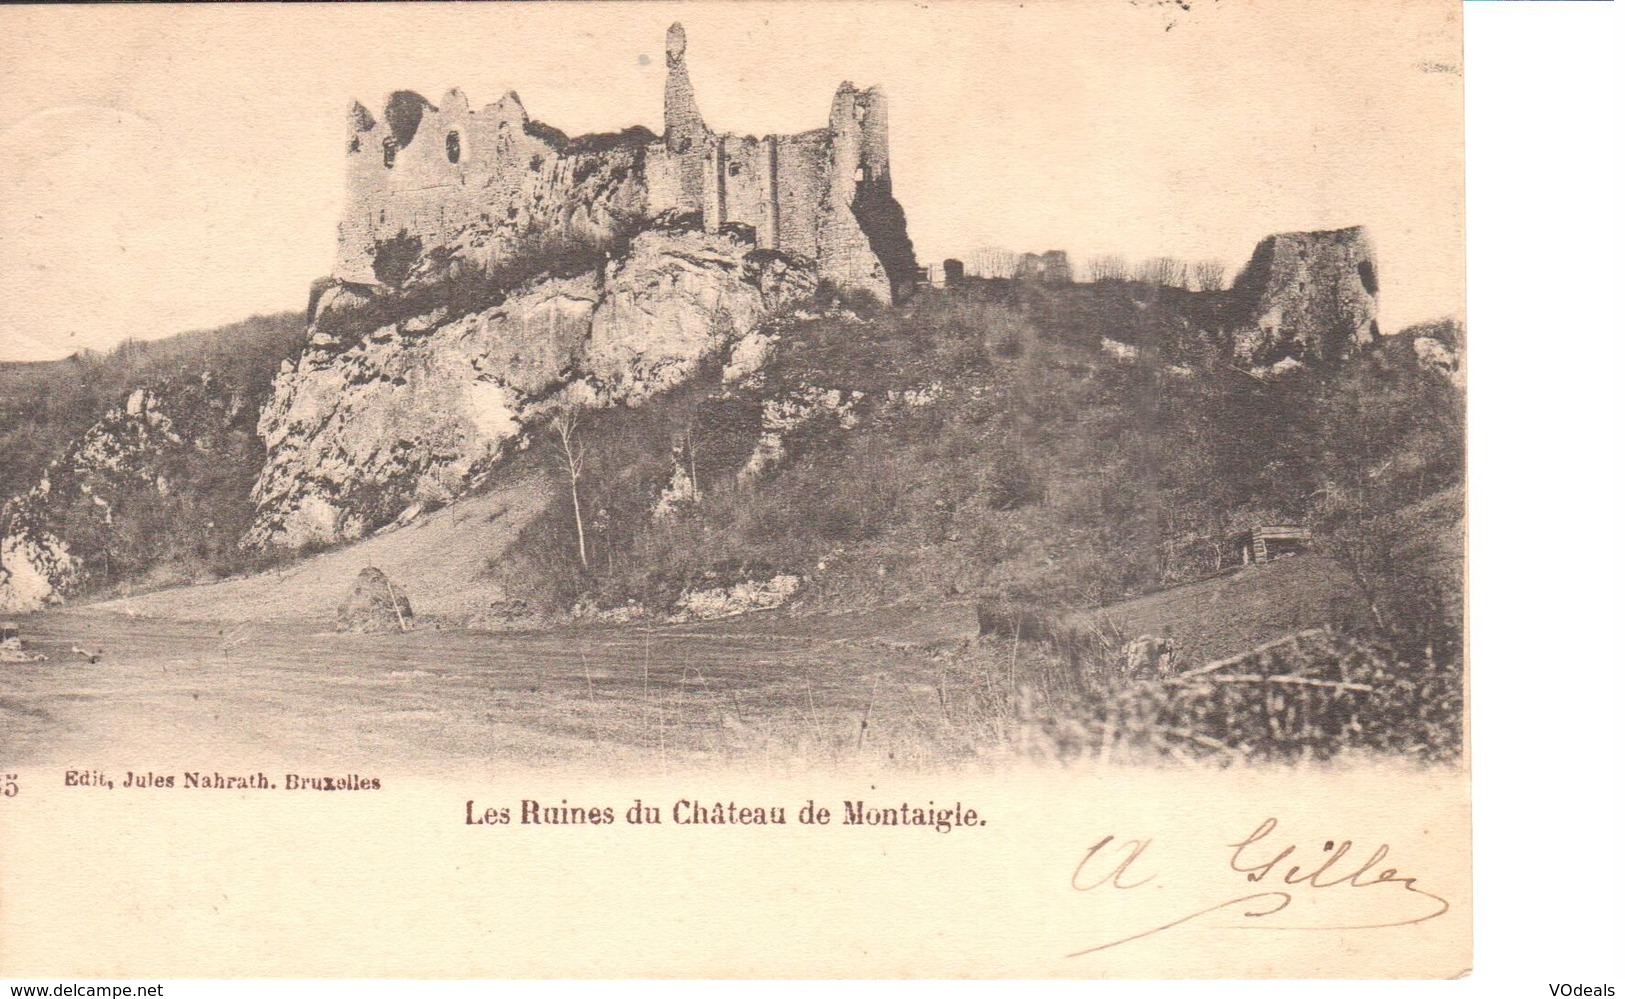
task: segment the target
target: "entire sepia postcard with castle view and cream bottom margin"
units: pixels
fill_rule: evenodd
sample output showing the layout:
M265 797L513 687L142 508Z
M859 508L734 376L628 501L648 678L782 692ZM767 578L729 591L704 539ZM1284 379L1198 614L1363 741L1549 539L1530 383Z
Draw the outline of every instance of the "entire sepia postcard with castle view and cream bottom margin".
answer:
M1459 3L0 26L0 975L1472 967Z

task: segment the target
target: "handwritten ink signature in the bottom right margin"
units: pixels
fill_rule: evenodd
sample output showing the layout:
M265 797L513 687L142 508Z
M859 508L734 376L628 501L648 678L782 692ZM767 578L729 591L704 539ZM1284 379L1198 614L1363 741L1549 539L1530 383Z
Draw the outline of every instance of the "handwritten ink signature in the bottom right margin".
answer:
M1185 923L1191 923L1193 919L1201 919L1202 916L1211 916L1220 911L1232 915L1238 913L1242 916L1243 923L1233 924L1232 928L1235 929L1331 931L1412 926L1415 923L1436 919L1450 911L1450 902L1433 895L1432 892L1419 889L1415 877L1404 876L1396 867L1383 867L1383 861L1388 859L1388 843L1378 845L1363 863L1355 866L1355 859L1349 858L1349 853L1354 850L1354 843L1350 840L1342 840L1341 843L1328 840L1321 850L1323 856L1308 863L1300 861L1289 866L1289 858L1294 858L1294 854L1300 858L1306 854L1300 853L1295 843L1284 846L1279 843L1266 843L1266 840L1271 840L1276 832L1276 825L1277 822L1274 819L1264 819L1258 828L1238 843L1228 843L1225 846L1232 851L1228 861L1230 871L1235 874L1245 874L1246 884L1259 885L1261 890L1227 898L1217 905L1209 905L1186 916L1180 916L1178 919L1152 926L1150 929L1126 937L1074 950L1066 957L1082 957L1086 954L1097 954L1131 941L1142 941L1165 929L1173 929L1175 926L1181 926ZM1120 840L1116 835L1105 837L1089 848L1084 859L1077 861L1077 867L1072 871L1072 890L1131 892L1154 884L1157 880L1157 874L1149 871L1154 863L1154 859L1150 859L1150 838ZM1367 890L1372 895L1376 895L1376 889L1384 885L1398 887L1398 890L1427 900L1430 911L1402 919L1378 918L1373 921L1357 921L1339 926L1305 926L1294 924L1285 918L1271 919L1271 916L1277 916L1285 911L1292 905L1294 898L1303 895L1305 892L1337 889L1344 892Z

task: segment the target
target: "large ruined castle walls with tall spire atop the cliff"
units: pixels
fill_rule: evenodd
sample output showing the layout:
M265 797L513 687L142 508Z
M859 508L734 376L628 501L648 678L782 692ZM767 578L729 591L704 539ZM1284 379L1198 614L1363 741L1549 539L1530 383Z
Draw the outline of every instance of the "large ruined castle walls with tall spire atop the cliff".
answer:
M718 135L705 125L681 24L666 32L665 133L569 138L512 91L471 109L395 93L382 120L349 110L346 205L333 276L390 284L390 247L491 268L531 247L603 250L655 219L728 227L881 301L908 294L913 245L892 198L886 97L842 83L829 125Z

